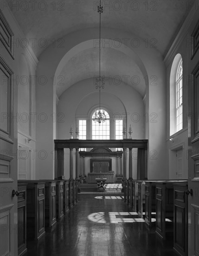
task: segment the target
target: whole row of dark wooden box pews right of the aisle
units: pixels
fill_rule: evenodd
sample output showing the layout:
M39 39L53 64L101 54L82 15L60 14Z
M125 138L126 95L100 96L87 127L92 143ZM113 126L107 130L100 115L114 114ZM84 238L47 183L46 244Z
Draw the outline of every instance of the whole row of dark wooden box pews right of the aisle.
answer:
M173 236L173 249L187 255L187 180L124 180L122 186L124 202L144 218L146 226L155 223L156 235L162 240Z

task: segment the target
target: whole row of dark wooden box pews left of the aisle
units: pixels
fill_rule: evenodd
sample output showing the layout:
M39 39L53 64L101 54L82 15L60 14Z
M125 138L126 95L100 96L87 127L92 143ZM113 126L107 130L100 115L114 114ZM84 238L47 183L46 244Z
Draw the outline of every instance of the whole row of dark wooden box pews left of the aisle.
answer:
M18 255L38 241L78 202L77 180L18 181Z

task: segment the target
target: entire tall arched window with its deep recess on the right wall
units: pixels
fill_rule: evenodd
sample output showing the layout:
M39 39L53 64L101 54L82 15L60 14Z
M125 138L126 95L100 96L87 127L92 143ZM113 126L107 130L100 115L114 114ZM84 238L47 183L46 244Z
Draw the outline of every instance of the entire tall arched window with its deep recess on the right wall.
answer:
M170 74L170 136L183 128L183 66L181 54L176 54Z

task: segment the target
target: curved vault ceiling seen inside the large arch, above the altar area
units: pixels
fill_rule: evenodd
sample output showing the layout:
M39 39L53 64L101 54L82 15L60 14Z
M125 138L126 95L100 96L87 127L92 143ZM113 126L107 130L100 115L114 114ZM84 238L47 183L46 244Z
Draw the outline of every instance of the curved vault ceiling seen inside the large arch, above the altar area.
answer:
M58 97L71 84L99 75L99 48L84 50L71 58L63 67L60 76L63 83L57 88ZM101 75L112 86L131 85L142 97L145 95L145 81L140 68L126 54L115 49L101 49Z

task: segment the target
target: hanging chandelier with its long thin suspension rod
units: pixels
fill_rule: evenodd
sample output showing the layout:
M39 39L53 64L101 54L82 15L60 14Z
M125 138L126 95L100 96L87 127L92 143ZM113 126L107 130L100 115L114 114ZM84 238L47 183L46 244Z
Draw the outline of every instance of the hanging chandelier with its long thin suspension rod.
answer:
M104 113L104 110L101 110L101 105L100 105L100 93L101 93L101 88L104 88L104 79L101 77L101 13L103 13L103 6L101 6L101 0L100 0L100 5L97 7L97 12L100 14L100 27L99 27L99 77L96 77L96 89L99 88L99 109L95 111L93 121L98 122L99 125L101 122L106 121L106 115Z

